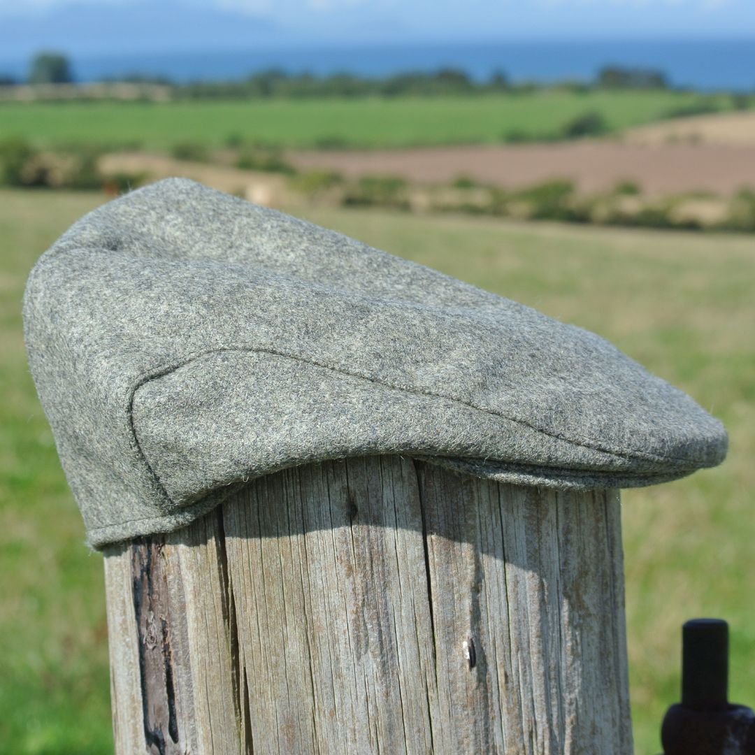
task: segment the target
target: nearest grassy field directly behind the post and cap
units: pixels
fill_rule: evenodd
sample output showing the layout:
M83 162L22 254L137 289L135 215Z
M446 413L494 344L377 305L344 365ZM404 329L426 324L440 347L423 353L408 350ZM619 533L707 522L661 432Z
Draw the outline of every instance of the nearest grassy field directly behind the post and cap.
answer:
M93 131L94 133L94 131ZM112 751L102 558L88 551L26 368L35 258L103 201L0 191L0 752ZM609 337L726 422L722 467L624 495L636 752L660 750L680 624L732 624L732 698L755 704L755 246L714 236L310 210L311 219Z

